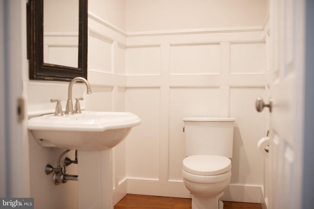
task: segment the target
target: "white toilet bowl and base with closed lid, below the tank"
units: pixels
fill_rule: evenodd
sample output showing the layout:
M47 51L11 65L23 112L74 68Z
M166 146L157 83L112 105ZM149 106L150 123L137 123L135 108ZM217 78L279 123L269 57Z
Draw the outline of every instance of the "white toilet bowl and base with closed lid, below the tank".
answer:
M183 160L183 182L192 194L192 209L222 209L219 198L229 185L231 161L224 156L194 155Z

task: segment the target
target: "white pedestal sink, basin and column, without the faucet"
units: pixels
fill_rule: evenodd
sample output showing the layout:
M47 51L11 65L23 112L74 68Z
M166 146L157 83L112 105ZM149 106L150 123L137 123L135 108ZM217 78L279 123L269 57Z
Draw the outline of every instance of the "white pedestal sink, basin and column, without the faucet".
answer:
M89 112L28 120L42 146L77 149L79 209L113 209L111 149L141 119L126 112Z

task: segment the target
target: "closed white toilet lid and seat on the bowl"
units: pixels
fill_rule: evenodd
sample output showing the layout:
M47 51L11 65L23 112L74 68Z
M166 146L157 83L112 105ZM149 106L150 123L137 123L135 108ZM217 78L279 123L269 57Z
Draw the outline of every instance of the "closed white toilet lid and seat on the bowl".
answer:
M224 156L193 155L184 158L183 169L196 175L218 175L231 169L231 161Z

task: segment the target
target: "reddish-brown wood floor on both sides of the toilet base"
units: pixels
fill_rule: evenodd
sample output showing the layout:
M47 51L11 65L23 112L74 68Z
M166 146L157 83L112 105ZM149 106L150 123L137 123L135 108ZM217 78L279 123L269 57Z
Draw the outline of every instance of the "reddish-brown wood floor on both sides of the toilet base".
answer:
M262 209L258 203L224 202L224 209ZM191 199L127 194L114 209L191 209Z

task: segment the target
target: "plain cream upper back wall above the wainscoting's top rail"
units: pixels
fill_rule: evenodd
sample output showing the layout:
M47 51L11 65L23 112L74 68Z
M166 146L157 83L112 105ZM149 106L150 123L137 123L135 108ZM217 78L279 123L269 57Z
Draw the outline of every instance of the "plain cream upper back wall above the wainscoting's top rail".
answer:
M126 0L126 31L258 26L265 0Z

